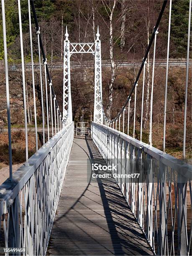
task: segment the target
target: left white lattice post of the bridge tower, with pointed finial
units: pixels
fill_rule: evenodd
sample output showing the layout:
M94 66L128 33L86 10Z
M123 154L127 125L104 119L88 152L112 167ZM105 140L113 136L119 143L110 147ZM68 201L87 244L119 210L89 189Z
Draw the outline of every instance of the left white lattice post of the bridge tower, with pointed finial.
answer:
M70 78L70 42L66 27L64 40L64 68L63 68L63 117L72 122L72 99L71 99L71 78Z

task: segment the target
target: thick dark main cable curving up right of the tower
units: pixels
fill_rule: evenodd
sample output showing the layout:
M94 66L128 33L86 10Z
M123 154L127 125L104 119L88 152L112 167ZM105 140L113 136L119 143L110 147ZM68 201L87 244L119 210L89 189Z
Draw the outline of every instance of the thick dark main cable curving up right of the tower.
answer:
M149 50L151 49L152 43L153 43L153 41L154 41L155 34L156 34L156 31L158 30L159 23L160 23L161 18L162 18L162 16L163 16L163 13L164 13L166 4L167 4L167 0L164 0L163 5L162 5L162 7L161 7L161 11L160 11L160 13L159 13L159 17L158 17L158 19L157 19L157 21L156 21L156 25L154 26L154 30L153 30L153 33L152 33L152 35L151 35L151 39L150 39L150 41L149 41L148 47L147 47L147 49L146 49L145 56L143 57L143 61L142 61L142 63L141 63L141 67L140 67L140 69L139 69L139 71L138 71L138 74L137 74L136 80L135 80L135 82L134 82L134 84L133 84L133 87L132 87L132 89L131 89L131 92L130 92L130 94L129 94L127 100L125 101L125 104L123 105L123 108L121 108L121 110L119 111L118 115L117 115L115 118L113 118L112 120L109 120L109 119L107 118L107 120L109 120L110 122L113 122L113 120L117 120L117 119L118 119L119 115L123 112L123 110L125 109L127 103L129 102L129 99L130 99L131 95L133 94L133 91L134 91L134 89L135 89L135 87L136 87L136 84L138 83L138 79L139 79L139 77L140 77L140 75L141 75L141 72L142 72L144 63L145 63L145 61L146 61L146 59L147 59ZM101 91L101 90L100 90L100 91ZM100 92L100 94L101 94L101 92ZM103 105L102 105L102 112L103 112L103 115L105 115L104 109L103 109Z

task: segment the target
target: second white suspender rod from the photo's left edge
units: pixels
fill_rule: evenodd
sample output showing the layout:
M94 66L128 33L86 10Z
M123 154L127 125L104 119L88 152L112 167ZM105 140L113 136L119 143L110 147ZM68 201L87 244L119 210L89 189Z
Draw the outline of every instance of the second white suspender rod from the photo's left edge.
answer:
M24 67L24 55L23 55L23 33L22 33L22 21L20 13L20 0L18 0L18 13L19 13L19 31L20 31L20 51L21 51L21 63L22 63L22 78L23 78L23 107L25 117L25 136L26 136L26 166L28 166L28 132L27 132L27 108L26 108L26 79L25 79L25 67Z

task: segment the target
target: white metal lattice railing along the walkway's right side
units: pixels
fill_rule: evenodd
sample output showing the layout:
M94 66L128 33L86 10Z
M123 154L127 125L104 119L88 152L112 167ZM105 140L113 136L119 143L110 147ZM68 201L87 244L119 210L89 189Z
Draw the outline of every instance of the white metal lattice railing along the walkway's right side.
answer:
M106 125L92 122L91 136L116 174L140 174L116 182L154 253L191 255L192 166Z

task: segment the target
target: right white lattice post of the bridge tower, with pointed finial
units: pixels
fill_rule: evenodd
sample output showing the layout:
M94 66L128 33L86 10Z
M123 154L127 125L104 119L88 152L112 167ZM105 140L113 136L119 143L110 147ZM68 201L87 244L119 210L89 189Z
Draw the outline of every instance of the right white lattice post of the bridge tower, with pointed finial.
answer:
M99 39L99 28L97 28L95 41L95 101L94 101L94 122L103 123L102 110L102 76L101 76L101 41Z

